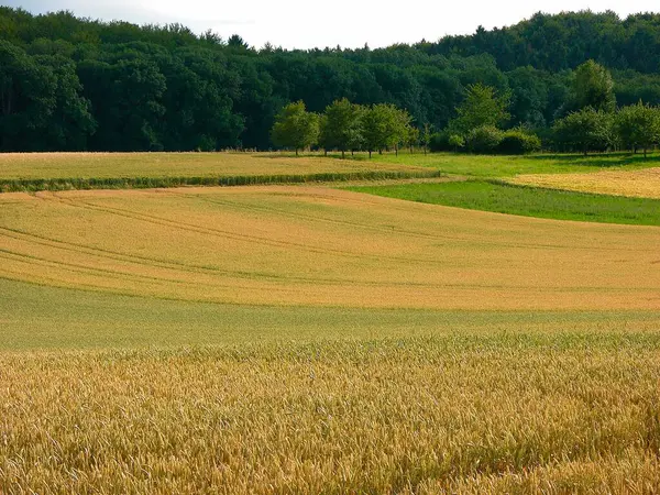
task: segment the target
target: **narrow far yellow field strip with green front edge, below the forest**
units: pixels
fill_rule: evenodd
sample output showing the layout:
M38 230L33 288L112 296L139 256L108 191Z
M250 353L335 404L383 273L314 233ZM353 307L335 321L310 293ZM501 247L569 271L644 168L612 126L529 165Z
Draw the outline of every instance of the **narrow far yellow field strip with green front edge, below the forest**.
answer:
M0 154L0 193L433 177L428 167L250 153Z

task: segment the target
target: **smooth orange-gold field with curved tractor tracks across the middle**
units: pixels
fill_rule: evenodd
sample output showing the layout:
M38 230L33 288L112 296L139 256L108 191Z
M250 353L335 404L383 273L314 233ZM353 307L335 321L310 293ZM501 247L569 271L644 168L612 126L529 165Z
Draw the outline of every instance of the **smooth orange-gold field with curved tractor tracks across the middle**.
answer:
M0 196L0 276L251 305L660 309L660 231L320 187Z

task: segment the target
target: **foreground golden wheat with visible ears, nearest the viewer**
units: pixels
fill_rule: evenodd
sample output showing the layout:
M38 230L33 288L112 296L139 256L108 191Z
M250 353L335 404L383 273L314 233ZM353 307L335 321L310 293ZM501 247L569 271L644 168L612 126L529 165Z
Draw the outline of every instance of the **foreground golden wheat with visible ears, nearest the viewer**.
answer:
M7 493L657 493L658 333L4 353Z

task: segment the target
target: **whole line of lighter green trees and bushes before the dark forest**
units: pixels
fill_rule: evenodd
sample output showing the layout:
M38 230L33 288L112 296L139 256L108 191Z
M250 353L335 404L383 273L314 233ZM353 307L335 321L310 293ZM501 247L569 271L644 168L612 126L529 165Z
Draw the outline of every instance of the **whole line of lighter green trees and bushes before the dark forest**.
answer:
M593 61L575 70L565 101L568 114L544 132L544 145L556 151L632 150L637 153L660 144L660 107L641 100L617 108L612 76ZM539 151L542 142L534 129L504 129L510 118L510 92L498 94L482 84L466 89L463 102L446 129L432 132L426 123L416 127L413 117L389 103L361 106L348 99L334 101L322 114L308 112L305 102L287 105L275 118L273 142L299 150L372 152L399 146L429 145L432 151L468 151L483 154L525 154Z

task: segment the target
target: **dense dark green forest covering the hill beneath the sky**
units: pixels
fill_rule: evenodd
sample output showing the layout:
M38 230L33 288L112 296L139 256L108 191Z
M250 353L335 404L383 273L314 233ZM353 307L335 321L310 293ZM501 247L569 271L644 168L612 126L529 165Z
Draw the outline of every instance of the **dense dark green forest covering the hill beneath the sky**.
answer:
M514 26L387 48L255 48L179 24L138 26L0 8L1 151L268 150L289 102L392 103L443 130L469 88L508 95L504 128L571 110L574 70L612 73L616 105L660 105L660 14L536 14Z

